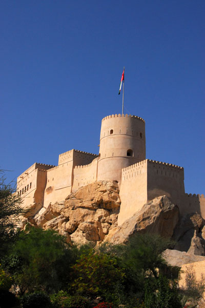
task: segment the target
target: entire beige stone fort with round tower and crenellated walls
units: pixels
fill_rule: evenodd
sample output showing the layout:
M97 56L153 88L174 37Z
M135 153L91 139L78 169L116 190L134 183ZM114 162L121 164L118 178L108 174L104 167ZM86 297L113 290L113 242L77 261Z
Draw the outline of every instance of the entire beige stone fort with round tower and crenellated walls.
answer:
M103 180L118 182L118 225L162 195L181 214L199 213L205 219L204 196L185 193L183 167L146 159L145 121L128 114L102 120L98 155L72 149L59 155L57 166L34 163L17 178L17 194L24 205L48 208L79 187Z

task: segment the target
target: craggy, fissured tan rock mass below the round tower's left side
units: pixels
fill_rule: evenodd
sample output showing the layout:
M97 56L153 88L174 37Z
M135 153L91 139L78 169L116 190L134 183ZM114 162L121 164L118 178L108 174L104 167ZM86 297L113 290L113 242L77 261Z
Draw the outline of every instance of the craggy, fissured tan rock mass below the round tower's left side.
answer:
M39 207L30 206L28 221L44 229L52 228L75 244L104 240L117 225L120 199L115 181L99 181L72 192L65 201ZM29 215L29 216L28 216Z

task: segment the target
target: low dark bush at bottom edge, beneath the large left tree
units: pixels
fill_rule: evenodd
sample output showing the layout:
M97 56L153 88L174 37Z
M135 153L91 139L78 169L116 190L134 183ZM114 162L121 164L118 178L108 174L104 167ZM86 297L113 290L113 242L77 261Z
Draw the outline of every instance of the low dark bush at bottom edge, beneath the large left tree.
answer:
M23 308L50 308L51 301L47 294L43 292L36 292L26 294L20 301Z

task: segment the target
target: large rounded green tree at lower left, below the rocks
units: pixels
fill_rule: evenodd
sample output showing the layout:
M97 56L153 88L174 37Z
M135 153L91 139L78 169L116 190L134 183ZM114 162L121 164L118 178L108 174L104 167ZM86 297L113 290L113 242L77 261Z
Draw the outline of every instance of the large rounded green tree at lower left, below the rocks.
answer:
M54 230L31 228L21 232L5 260L20 291L57 292L68 284L70 265L75 262L75 249Z

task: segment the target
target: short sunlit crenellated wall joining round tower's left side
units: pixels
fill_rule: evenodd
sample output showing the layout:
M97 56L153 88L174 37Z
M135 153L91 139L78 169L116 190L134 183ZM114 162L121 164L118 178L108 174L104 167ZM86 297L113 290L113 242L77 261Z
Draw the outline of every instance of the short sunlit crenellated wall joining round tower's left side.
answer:
M96 181L97 161L98 159L95 158L89 165L75 166L73 170L74 178L72 191L75 191L81 186L85 186Z

